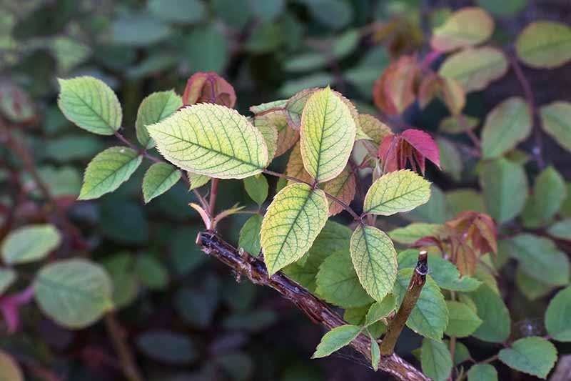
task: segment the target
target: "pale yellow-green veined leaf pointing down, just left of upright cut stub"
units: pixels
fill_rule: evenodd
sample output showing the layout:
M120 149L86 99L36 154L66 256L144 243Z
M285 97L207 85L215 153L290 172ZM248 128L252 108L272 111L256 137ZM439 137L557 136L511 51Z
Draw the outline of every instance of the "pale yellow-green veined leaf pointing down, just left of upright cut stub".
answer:
M393 290L397 277L397 252L387 234L376 227L359 225L350 243L351 259L360 283L381 302Z

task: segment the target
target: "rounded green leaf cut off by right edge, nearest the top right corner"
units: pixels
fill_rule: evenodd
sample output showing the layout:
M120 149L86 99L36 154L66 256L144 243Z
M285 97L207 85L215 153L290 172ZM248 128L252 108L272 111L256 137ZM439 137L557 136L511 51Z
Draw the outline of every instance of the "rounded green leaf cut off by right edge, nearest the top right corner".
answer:
M571 60L571 28L555 21L536 21L517 36L517 56L528 66L551 69Z

